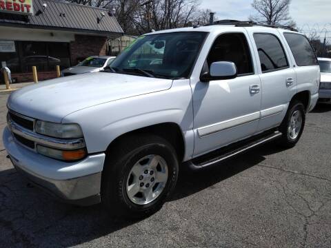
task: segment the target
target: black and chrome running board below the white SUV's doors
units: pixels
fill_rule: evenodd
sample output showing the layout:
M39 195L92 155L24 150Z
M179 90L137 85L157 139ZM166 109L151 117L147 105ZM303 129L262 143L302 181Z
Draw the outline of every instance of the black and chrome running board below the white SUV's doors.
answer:
M271 134L269 133L268 135L262 134L253 138L249 138L246 141L239 141L234 145L229 145L228 147L223 147L215 152L211 152L210 154L194 158L192 161L188 162L188 166L192 170L210 167L221 161L225 161L228 158L232 158L232 156L236 156L238 154L248 151L249 149L252 149L264 143L268 143L269 141L273 141L274 139L279 138L279 136L281 135L281 132L276 131L272 132Z

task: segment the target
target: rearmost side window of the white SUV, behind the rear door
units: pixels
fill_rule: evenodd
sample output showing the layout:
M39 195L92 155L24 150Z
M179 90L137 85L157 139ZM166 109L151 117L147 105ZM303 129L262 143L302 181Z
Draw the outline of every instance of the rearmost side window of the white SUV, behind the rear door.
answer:
M284 33L288 45L294 56L295 62L299 66L318 65L317 57L314 54L312 45L310 45L307 37L302 34Z

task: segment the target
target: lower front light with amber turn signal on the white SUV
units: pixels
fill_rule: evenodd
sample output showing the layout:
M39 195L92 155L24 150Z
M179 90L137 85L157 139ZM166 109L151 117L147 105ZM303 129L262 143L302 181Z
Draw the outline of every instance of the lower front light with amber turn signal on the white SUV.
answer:
M61 161L78 161L86 156L86 149L59 150L43 145L37 145L37 152L43 156L59 159Z

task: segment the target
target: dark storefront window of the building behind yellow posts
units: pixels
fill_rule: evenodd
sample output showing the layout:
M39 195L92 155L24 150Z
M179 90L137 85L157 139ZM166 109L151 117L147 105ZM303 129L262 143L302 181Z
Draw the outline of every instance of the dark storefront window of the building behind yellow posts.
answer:
M38 72L51 72L60 65L61 70L70 67L69 43L15 41L15 52L1 52L1 64L12 73L32 72L32 66Z

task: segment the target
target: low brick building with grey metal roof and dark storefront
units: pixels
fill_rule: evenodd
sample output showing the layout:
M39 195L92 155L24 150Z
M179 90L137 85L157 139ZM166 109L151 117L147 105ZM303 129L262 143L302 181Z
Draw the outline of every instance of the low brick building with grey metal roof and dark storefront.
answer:
M15 0L0 0L0 62L17 82L32 81L32 66L37 66L39 80L51 79L56 65L64 69L87 56L106 55L106 41L123 34L105 9L54 0L21 1L22 8L14 6Z

